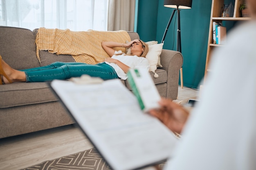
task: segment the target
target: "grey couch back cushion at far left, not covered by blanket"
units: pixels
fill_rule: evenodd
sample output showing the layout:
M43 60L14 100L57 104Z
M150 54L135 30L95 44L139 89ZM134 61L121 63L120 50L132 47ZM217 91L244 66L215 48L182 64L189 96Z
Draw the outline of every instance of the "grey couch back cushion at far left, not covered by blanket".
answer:
M12 68L22 70L39 67L35 36L25 28L0 26L0 55Z

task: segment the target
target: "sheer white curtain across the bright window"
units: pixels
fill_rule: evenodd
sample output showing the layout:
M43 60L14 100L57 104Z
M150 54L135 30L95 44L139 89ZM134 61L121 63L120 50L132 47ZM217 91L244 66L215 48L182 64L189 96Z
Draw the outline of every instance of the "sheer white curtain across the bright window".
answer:
M0 25L107 31L108 0L0 0Z

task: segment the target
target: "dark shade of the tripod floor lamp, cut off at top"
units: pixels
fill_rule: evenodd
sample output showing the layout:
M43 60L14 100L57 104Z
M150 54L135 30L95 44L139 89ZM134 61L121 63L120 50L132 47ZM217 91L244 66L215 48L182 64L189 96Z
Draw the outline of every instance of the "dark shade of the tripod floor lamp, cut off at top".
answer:
M192 0L164 0L164 7L179 9L191 9Z

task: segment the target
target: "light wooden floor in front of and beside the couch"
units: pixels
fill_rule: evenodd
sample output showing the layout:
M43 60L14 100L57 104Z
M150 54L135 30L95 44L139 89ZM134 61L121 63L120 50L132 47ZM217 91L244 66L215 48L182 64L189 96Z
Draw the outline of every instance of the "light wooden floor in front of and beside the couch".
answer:
M195 96L198 90L179 87L175 102ZM75 125L7 137L0 139L0 170L19 170L92 147Z

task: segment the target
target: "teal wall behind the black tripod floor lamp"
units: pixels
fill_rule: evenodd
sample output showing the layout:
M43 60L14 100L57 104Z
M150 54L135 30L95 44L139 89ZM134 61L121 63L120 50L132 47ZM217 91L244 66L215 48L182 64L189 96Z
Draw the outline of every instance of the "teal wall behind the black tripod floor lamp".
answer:
M138 0L137 33L143 41L162 41L173 12L164 7L164 0ZM199 88L204 76L211 15L211 0L193 0L192 9L181 9L180 30L183 63L183 84ZM176 50L177 20L168 28L164 49Z

